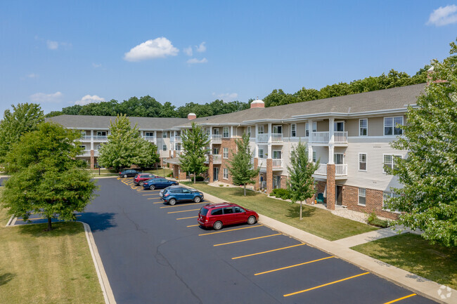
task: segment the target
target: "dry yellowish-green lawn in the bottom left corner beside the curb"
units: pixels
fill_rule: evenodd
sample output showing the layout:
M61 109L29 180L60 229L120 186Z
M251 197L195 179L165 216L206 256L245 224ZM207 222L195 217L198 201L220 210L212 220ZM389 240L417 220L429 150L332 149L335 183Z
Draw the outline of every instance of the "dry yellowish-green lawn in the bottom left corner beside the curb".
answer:
M82 223L44 232L47 223L8 220L0 207L0 303L105 303Z

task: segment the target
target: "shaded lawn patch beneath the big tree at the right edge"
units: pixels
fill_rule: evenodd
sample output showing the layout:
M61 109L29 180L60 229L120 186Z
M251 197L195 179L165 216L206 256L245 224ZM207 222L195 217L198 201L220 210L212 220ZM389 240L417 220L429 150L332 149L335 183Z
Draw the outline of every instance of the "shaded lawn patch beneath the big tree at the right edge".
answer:
M457 248L430 245L417 234L400 234L352 247L367 256L457 289Z

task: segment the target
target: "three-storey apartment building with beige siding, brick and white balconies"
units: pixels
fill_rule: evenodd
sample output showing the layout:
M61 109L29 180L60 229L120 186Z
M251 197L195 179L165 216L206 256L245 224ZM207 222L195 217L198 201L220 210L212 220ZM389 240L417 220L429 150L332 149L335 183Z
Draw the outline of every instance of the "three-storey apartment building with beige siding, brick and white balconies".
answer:
M228 160L236 152L236 139L247 133L254 154L253 164L260 168L255 188L266 193L274 188L285 188L290 153L301 142L307 146L309 160L319 161L314 178L317 192L323 192L326 197L328 209L340 205L395 218L395 212L385 209L384 200L395 195L391 187L401 185L397 178L385 172L385 167L394 166L394 158L405 157L406 151L394 150L390 143L401 136L397 124L406 124L407 107L416 104L424 86L418 84L277 107L264 107L262 100L255 100L250 109L212 117L189 114L188 119L130 119L132 125L139 125L142 136L155 140L161 159L167 159L174 168L174 175L181 178L185 175L179 169L181 131L191 128L192 122L202 126L210 137L207 164L211 182L232 183ZM103 131L108 132L110 119L113 117L63 115L51 120L81 130L87 140L82 141L87 147L83 157L90 157L88 161L95 164L97 147L103 143L101 136L108 135Z

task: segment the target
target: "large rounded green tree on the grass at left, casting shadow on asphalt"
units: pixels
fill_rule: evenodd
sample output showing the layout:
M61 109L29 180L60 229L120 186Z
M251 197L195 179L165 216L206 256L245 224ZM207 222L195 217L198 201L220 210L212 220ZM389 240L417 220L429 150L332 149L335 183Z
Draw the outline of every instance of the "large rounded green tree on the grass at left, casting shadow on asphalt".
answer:
M81 147L79 131L58 124L43 123L24 134L6 156L11 177L1 195L12 216L29 218L41 213L48 219L75 220L94 197L96 185L83 161L76 160Z

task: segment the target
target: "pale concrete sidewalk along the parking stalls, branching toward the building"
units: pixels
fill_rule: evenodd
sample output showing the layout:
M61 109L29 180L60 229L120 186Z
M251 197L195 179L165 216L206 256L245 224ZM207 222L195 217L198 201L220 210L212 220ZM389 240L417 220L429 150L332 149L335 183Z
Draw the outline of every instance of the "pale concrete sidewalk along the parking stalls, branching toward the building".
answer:
M205 192L203 193L205 194L205 199L207 201L211 201L213 203L224 202L224 200L219 199L219 197L214 197L214 195L210 195ZM326 251L326 253L329 253L332 256L341 258L342 260L361 267L363 270L372 272L379 277L387 279L399 286L403 286L406 289L410 289L421 296L435 300L438 303L457 304L456 290L448 289L447 287L443 287L441 284L432 282L429 279L414 275L411 272L389 265L380 260L376 260L375 258L371 258L370 256L366 256L363 253L359 253L349 248L358 244L371 242L375 239L397 235L397 232L390 230L390 228L367 232L330 242L327 239L317 237L314 234L304 232L303 230L297 229L278 220L274 220L273 218L262 216L261 214L259 214L259 223L262 223L262 225L270 227L271 229L283 234L287 234L290 237L298 239L299 241L316 247L317 249ZM404 231L403 233L406 232L409 231ZM439 291L442 292L439 293ZM440 298L440 295L444 296L444 294L449 293L449 297Z

